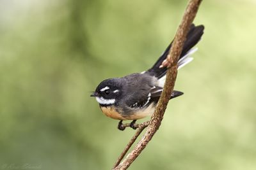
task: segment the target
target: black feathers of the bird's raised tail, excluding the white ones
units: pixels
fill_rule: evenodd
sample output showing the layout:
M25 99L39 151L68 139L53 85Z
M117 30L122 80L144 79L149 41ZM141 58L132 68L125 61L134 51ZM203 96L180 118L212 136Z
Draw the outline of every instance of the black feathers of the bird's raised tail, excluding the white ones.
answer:
M186 53L191 48L193 48L193 46L195 46L196 43L198 43L198 41L201 39L201 36L203 34L204 34L204 25L195 26L194 24L191 24L188 35L187 35L187 39L184 43L183 50L180 55L180 59L184 57L184 55L186 55ZM159 68L159 66L161 66L163 60L166 59L171 47L172 47L172 43L170 43L170 45L166 48L166 50L161 55L161 57L159 57L157 62L154 64L154 66L148 69L147 71L148 74L152 74L157 78L161 78L166 74L167 68L166 67Z

